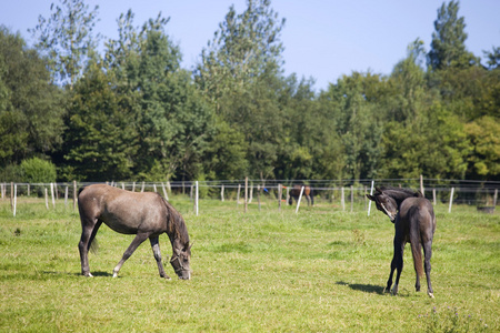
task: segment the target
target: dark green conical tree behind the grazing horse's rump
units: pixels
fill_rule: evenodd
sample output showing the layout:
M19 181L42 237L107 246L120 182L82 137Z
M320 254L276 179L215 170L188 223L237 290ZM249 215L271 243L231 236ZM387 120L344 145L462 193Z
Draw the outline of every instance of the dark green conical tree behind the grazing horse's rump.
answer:
M64 134L64 179L127 180L138 151L134 114L100 63L91 63L73 89Z

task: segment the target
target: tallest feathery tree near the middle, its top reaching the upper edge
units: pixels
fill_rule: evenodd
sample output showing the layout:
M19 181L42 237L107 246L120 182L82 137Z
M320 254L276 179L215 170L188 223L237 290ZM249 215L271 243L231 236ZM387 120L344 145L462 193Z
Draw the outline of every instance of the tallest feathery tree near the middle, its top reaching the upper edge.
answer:
M213 40L203 49L196 82L216 107L217 114L244 134L252 176L273 176L282 145L282 44L279 20L269 0L248 0L238 14L234 7Z

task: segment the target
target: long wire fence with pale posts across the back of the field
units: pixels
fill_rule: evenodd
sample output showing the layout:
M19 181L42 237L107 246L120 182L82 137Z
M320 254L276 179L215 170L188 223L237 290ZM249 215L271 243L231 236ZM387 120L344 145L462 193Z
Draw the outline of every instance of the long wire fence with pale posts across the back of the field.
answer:
M44 198L47 209L63 199L67 206L77 209L78 189L94 182L59 183L0 183L1 200L10 198L16 215L17 200L36 196ZM438 179L374 179L374 180L222 180L222 181L177 181L177 182L106 182L112 186L134 192L158 192L167 200L174 195L189 196L194 202L198 214L198 201L212 199L236 201L249 204L261 200L276 202L278 208L297 204L290 200L290 189L294 184L307 184L312 189L314 205L332 205L353 211L368 209L367 193L372 186L400 186L420 190L427 199L436 204L476 205L480 211L492 212L497 205L500 182L438 180ZM302 201L306 203L306 200Z

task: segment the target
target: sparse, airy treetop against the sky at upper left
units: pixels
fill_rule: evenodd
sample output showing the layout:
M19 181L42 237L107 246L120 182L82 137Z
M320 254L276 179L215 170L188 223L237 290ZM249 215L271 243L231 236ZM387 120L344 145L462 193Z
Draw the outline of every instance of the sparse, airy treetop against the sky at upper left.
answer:
M50 59L54 81L72 89L99 40L92 34L99 7L89 11L83 0L60 0L60 4L52 3L51 16L40 16L30 32L38 39L36 47Z

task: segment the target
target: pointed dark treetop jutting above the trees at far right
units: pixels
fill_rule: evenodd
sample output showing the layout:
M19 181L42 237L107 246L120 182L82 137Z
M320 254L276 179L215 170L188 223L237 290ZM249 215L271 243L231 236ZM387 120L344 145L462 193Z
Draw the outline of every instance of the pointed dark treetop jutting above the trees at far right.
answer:
M479 59L466 49L466 21L458 17L459 7L459 1L450 1L438 9L429 52L429 64L433 70L479 63Z

